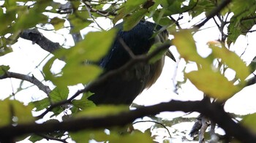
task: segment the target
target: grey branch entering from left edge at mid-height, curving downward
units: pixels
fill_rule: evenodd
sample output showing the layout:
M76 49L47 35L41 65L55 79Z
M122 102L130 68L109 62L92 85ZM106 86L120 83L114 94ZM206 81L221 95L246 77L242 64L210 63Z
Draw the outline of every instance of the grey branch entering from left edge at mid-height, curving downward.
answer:
M25 75L25 74L18 74L15 72L6 71L4 75L0 76L0 79L6 79L6 78L10 78L10 77L31 82L34 85L36 85L37 88L39 88L39 90L42 90L47 95L49 95L49 93L51 91L48 86L43 85L42 82L37 80L37 78L34 76L29 76L29 75Z

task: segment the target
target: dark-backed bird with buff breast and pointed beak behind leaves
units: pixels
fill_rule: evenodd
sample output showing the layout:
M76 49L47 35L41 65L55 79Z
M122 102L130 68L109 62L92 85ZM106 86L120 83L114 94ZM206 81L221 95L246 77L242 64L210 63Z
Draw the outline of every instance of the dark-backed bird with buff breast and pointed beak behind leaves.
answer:
M163 43L168 39L166 30L159 31L161 26L145 20L141 20L130 31L123 31L122 24L115 26L118 28L116 40L108 54L99 61L99 66L105 70L103 74L123 66L132 59L132 55L146 54L152 45L157 42ZM155 34L156 32L159 33ZM166 55L175 61L169 50ZM165 55L155 63L135 64L124 73L117 74L108 81L91 88L90 91L94 95L90 96L89 100L94 101L95 104L132 104L138 94L157 81L164 61Z

